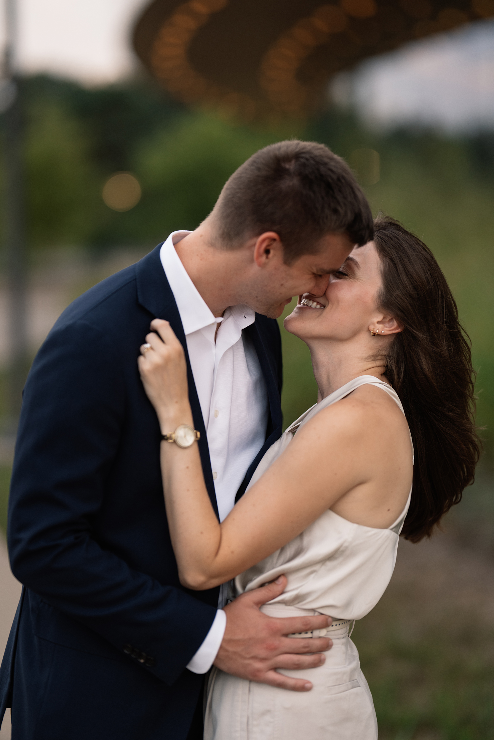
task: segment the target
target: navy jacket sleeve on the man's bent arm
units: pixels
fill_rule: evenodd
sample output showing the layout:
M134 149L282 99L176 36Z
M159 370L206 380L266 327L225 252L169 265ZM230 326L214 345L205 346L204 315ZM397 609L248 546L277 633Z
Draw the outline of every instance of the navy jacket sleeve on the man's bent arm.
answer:
M171 684L203 642L216 608L139 573L101 548L91 522L104 503L125 413L111 341L84 320L55 328L24 391L10 491L14 575ZM153 662L153 661L150 661Z

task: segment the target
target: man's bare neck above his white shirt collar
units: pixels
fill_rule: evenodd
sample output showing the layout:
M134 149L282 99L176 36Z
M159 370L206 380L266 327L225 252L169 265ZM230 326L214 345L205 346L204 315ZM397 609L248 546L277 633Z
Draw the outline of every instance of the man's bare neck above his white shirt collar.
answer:
M216 249L211 243L210 230L199 226L181 239L175 249L190 280L215 317L221 317L228 306L241 303L236 297L235 275L241 270L233 269L232 253ZM238 258L243 255L236 255Z

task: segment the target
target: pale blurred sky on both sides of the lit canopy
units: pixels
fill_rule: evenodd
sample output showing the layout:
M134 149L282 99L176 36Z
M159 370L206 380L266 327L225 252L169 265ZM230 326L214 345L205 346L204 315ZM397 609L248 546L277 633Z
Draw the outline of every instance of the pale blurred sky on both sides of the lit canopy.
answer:
M85 84L129 75L138 64L130 33L147 1L18 0L20 69ZM452 130L493 128L494 21L370 61L353 75L340 75L333 90L343 104L356 102L373 124L418 121Z

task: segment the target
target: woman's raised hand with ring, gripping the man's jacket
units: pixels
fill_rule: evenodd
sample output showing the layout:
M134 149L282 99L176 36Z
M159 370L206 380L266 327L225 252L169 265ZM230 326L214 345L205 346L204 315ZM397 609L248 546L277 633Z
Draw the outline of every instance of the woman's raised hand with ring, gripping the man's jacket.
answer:
M190 413L184 348L168 321L154 319L137 364L147 397L156 409L161 428L184 423ZM188 414L187 414L188 415Z

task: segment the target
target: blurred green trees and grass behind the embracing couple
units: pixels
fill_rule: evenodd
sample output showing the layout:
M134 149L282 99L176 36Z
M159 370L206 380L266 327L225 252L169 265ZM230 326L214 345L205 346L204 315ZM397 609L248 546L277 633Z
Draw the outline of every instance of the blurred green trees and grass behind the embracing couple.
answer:
M24 78L21 93L33 271L44 262L53 266L53 260L72 259L70 255L80 259L83 254L96 265L117 253L130 255L133 261L170 231L194 229L210 212L234 169L256 149L281 138L293 135L321 141L357 166L373 212L384 210L398 218L433 249L472 337L478 422L486 426L487 454L478 482L447 517L447 528L456 543L453 570L464 562L463 551L458 550L462 547L470 548L469 553L475 550L482 559L478 562L492 561L493 131L456 137L420 128L378 131L366 127L351 110L338 107L329 107L306 127L233 127L185 110L142 81L86 89L36 76ZM369 150L372 172L361 167ZM141 200L127 212L111 210L101 198L105 182L116 172L132 172L141 185ZM111 264L109 272L118 269L115 261ZM105 270L103 265L91 273L94 279L84 273L70 289L70 300L108 274ZM304 344L284 332L282 339L287 425L315 402L316 383ZM2 399L3 386L0 368ZM4 531L9 478L6 463L0 466L0 528ZM470 570L478 571L475 564ZM420 578L420 573L415 575ZM455 599L453 576L449 585L438 590ZM492 629L476 628L478 616L472 624L470 596L466 610L455 612L458 603L454 601L441 619L431 621L430 613L437 616L437 602L430 593L421 602L420 594L420 585L393 587L392 582L381 604L356 629L380 735L393 740L487 739L494 727ZM412 625L414 607L418 612ZM417 625L422 625L421 633L416 632Z

